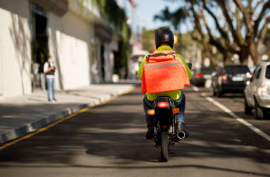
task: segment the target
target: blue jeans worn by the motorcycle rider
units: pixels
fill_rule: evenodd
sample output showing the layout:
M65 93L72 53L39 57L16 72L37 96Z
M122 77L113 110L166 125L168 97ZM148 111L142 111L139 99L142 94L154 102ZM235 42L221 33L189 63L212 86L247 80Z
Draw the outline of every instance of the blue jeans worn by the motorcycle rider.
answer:
M175 107L180 109L180 112L176 114L177 122L184 122L185 116L185 95L181 92L180 98L175 100ZM152 102L144 96L144 113L146 114L147 124L153 123L153 116L148 114L148 109L152 109ZM185 122L184 122L185 123Z

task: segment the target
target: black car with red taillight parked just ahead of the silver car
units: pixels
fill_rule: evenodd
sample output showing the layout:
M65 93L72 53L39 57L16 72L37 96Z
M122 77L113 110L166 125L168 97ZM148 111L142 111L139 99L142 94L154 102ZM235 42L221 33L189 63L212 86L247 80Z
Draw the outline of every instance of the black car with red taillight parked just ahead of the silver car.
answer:
M225 65L212 77L213 96L244 92L252 74L247 65Z

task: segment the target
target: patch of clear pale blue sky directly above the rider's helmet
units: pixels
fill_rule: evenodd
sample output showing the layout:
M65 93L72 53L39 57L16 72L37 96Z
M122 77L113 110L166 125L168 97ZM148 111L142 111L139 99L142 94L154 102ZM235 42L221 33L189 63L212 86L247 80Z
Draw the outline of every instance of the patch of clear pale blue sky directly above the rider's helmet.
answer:
M153 16L160 13L166 6L170 11L175 11L180 7L179 3L172 3L164 0L134 0L137 4L134 9L135 23L139 24L139 27L146 27L147 30L156 29L161 26L168 26L168 23L161 21L153 21ZM181 32L188 31L184 25L181 26Z

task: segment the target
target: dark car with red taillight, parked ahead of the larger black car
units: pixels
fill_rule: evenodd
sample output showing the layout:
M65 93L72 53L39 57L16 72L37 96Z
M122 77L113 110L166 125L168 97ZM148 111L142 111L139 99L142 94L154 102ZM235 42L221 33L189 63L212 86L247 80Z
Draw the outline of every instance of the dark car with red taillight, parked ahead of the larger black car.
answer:
M193 77L190 80L193 85L199 86L199 85L205 85L205 80L211 79L212 73L216 72L217 70L215 68L200 68L191 70L193 73Z

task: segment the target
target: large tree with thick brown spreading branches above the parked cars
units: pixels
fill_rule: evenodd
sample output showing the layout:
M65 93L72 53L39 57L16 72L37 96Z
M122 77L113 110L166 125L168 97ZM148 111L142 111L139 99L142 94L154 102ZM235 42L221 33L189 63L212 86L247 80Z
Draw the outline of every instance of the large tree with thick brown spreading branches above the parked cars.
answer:
M179 1L185 2L187 13L198 33L202 35L203 28L205 28L209 36L208 42L215 45L225 55L225 58L226 55L235 53L239 55L242 64L247 64L248 56L251 55L254 64L258 64L257 48L263 43L270 22L270 17L265 16L266 11L270 9L270 0L266 2L252 0ZM220 10L221 13L214 13L214 9ZM215 38L213 35L213 29L210 28L205 16L209 16L214 21L214 30L217 31L219 38ZM220 18L223 19L220 20Z

